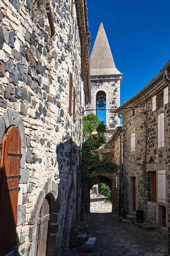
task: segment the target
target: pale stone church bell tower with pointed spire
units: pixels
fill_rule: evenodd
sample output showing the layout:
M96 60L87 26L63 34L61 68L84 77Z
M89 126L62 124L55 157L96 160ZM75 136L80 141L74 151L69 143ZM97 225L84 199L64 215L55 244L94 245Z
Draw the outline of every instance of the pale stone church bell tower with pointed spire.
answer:
M107 135L112 136L115 128L120 125L120 119L112 112L120 106L120 86L123 74L115 67L107 35L101 22L95 44L90 56L90 79L92 104L89 107L93 113L103 119L107 125ZM98 107L102 101L103 107ZM106 109L101 111L102 109Z

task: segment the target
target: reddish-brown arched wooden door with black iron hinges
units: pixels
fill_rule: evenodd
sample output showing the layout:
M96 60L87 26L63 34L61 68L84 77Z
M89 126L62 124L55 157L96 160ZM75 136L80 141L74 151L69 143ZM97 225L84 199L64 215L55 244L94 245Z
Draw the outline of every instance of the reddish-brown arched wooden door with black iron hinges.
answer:
M19 190L21 139L11 126L3 136L0 160L0 255L16 247L17 201Z

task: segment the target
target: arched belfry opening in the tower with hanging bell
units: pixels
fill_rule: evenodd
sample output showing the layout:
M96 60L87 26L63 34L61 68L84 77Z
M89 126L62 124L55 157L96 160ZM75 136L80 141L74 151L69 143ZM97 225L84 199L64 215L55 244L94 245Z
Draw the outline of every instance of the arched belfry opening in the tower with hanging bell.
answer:
M98 91L96 94L96 116L106 125L106 93L104 91Z

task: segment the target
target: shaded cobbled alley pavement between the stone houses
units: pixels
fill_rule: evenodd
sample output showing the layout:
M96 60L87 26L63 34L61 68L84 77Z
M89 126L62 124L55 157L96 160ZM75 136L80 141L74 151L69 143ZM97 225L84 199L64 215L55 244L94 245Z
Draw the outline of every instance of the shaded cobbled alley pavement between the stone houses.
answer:
M167 255L167 239L158 231L147 232L132 224L120 223L118 216L112 213L90 213L88 217L91 236L97 239L95 251L90 254L72 253L75 256Z

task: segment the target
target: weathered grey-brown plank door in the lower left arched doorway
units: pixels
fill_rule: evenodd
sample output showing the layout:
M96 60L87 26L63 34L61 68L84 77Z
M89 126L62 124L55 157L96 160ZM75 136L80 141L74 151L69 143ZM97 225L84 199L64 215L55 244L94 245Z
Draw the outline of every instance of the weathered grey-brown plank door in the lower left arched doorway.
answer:
M37 220L35 256L46 256L46 247L50 220L50 198L46 195Z

